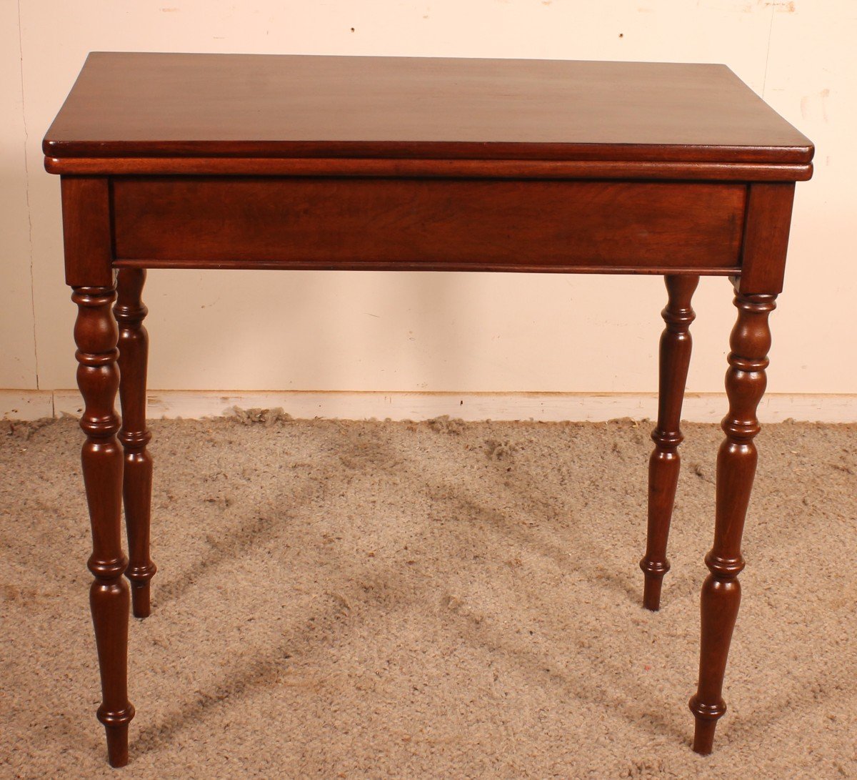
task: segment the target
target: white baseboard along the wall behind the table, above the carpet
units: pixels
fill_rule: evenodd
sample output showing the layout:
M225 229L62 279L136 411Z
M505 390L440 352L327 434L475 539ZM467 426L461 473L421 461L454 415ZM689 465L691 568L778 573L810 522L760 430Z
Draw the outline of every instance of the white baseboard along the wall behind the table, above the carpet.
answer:
M654 393L381 393L323 391L151 390L148 417L219 417L232 407L283 408L295 418L345 420L430 420L441 414L462 420L614 420L654 419ZM77 390L0 390L0 414L36 420L81 414ZM722 393L688 393L682 419L719 422L726 413ZM857 395L765 396L762 422L794 420L857 422Z

